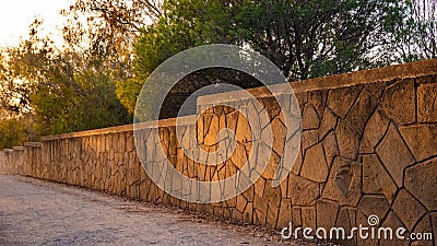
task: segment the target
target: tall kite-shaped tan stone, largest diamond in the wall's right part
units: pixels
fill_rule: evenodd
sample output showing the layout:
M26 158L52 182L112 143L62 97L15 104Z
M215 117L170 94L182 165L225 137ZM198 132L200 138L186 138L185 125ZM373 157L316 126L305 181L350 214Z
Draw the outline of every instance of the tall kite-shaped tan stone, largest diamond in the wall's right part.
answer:
M392 124L390 124L387 136L378 145L377 154L391 177L393 177L395 184L401 187L403 185L404 168L412 165L415 161Z

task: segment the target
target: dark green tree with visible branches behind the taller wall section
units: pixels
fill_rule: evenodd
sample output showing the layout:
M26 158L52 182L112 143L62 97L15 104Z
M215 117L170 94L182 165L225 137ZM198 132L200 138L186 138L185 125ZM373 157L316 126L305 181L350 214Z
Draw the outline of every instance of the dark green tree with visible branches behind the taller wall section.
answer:
M244 1L237 34L291 80L390 63L387 23L404 19L399 0Z

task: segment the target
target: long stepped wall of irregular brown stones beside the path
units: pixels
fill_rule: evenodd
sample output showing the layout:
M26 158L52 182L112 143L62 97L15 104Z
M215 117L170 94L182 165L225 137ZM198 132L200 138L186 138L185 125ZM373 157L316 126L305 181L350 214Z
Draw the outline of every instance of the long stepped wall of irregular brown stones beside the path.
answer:
M284 149L283 116L263 87L249 90L270 116L275 132L272 155L261 178L244 194L213 204L188 203L155 186L135 152L132 126L46 137L0 152L0 173L28 175L131 199L175 206L261 226L351 229L368 226L377 215L379 226L403 226L410 232L437 236L437 60L359 71L292 84L303 114L299 156L279 187L272 177ZM279 85L281 86L281 85ZM217 101L245 98L212 95L199 108ZM290 95L281 96L290 99ZM198 125L187 125L187 136L206 151L215 151L216 133L236 132L233 156L216 166L194 163L184 155L175 138L175 119L160 121L160 140L172 164L200 180L221 180L235 174L251 148L250 127L238 110L215 107ZM147 129L147 126L144 126ZM182 141L196 141L186 139ZM153 148L150 148L153 150ZM155 156L153 151L147 156ZM153 160L152 160L153 161ZM354 239L342 245L378 245ZM412 245L435 245L435 241ZM380 241L380 245L410 245L409 241Z

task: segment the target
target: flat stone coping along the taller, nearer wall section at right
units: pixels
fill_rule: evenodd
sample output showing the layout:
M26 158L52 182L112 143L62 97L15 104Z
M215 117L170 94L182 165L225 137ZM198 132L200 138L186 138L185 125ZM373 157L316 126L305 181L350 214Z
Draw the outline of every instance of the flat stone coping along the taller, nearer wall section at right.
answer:
M316 90L338 89L357 84L370 84L378 81L391 81L395 79L416 78L437 74L437 59L422 60L403 65L394 65L370 70L362 70L335 75L291 82L294 93L303 93ZM280 95L284 84L270 86L273 95ZM272 96L272 92L262 86L247 90L255 97ZM220 93L200 96L198 105L216 104L220 102L233 102L245 98L245 94L235 92Z

